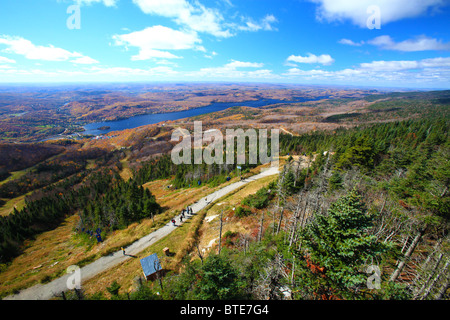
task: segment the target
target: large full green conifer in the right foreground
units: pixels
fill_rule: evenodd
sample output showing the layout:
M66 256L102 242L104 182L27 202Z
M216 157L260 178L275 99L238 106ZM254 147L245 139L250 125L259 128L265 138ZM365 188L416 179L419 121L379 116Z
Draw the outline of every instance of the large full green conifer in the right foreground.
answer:
M372 217L356 190L331 204L328 214L315 214L300 234L305 257L301 281L322 299L352 298L367 281L365 263L388 249L367 233Z

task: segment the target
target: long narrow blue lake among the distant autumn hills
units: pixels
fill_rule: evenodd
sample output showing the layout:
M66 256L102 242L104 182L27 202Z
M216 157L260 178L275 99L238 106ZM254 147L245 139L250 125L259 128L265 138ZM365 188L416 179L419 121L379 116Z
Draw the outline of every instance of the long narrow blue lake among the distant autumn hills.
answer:
M134 129L137 127L160 123L163 121L174 121L184 118L190 118L199 116L202 114L208 114L212 112L222 111L231 107L251 107L251 108L260 108L264 106L268 106L276 103L293 103L293 102L306 102L324 99L325 97L320 97L317 99L306 99L306 98L296 98L293 101L287 100L276 100L276 99L261 99L256 101L246 101L246 102L215 102L206 107L194 108L185 111L178 112L166 112L166 113L154 113L154 114L146 114L140 116L134 116L128 119L116 120L116 121L105 121L105 122L96 122L90 123L84 126L84 131L82 134L86 135L100 135L106 134L111 131L122 131L125 129ZM105 130L99 130L100 128Z

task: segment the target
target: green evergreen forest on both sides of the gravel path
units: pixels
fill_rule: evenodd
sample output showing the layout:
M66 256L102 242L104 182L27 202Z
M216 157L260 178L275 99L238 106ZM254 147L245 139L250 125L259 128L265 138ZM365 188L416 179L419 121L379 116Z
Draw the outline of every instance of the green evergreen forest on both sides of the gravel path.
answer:
M277 180L225 212L229 223L245 229L253 217L259 226L227 232L220 250L205 256L193 245L162 279L162 292L157 282L149 282L130 297L448 299L448 131L448 116L431 113L281 135L285 165ZM213 188L256 166L174 166L167 154L141 160L144 140L114 152L69 148L3 183L6 199L29 195L23 209L0 218L2 270L21 254L26 240L70 215L80 218L78 234L96 231L103 241L167 210L145 184L164 179L173 190ZM126 162L127 154L133 161ZM129 297L117 283L105 290L113 294L84 298Z

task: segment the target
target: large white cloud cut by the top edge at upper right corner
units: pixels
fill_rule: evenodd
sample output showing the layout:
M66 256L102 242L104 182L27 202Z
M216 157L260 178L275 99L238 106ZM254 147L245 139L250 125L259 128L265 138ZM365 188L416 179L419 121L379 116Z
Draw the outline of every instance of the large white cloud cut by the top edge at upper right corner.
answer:
M414 18L430 10L438 10L448 5L447 0L309 0L318 4L317 18L326 21L350 20L357 26L367 27L367 13L370 6L378 6L381 23Z

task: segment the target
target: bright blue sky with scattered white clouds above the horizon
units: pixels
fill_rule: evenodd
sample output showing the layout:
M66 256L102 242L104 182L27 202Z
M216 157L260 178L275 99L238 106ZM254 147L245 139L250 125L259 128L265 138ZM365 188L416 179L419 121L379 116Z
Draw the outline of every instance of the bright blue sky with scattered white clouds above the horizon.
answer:
M1 0L0 82L450 88L450 0Z

